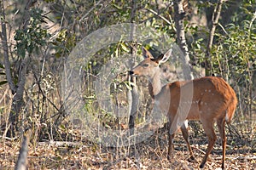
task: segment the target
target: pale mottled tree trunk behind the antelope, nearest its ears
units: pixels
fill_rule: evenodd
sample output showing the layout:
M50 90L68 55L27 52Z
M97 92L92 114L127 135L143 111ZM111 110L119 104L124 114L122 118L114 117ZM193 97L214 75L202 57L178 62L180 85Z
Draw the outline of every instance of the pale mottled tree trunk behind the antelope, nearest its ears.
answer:
M175 20L175 26L177 30L177 44L181 51L183 52L184 55L184 60L183 60L183 71L186 70L186 68L190 68L189 64L189 48L186 42L186 37L185 37L185 31L184 31L184 18L186 16L186 12L184 11L183 4L188 3L185 2L187 0L176 0L174 2L174 20ZM191 80L193 79L193 74L192 71L189 72L184 72L184 78L186 80Z

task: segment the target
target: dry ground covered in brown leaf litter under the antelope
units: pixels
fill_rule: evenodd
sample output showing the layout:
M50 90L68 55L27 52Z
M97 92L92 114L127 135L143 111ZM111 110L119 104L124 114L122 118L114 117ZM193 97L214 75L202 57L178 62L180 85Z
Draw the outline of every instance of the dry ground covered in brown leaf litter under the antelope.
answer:
M78 140L77 140L77 139ZM245 144L241 139L230 139L226 153L226 169L256 169L255 139ZM204 133L190 134L195 162L187 161L189 155L181 133L175 138L175 156L167 155L167 133L159 130L148 140L130 147L110 148L79 139L73 142L38 142L29 144L29 169L199 169L207 138ZM251 144L251 145L250 145ZM253 144L253 145L252 145ZM136 150L135 150L136 148ZM20 150L20 140L4 139L0 144L0 169L14 169ZM220 140L214 145L205 169L220 169L222 150Z

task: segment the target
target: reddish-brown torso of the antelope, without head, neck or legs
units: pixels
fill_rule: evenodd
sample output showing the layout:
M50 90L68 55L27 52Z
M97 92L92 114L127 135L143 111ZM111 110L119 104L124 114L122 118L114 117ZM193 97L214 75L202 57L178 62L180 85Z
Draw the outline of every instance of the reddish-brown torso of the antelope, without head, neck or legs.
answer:
M162 110L168 112L170 119L181 114L181 122L186 119L213 120L222 117L230 122L237 105L233 88L220 77L202 77L193 81L166 84L155 96L155 100Z

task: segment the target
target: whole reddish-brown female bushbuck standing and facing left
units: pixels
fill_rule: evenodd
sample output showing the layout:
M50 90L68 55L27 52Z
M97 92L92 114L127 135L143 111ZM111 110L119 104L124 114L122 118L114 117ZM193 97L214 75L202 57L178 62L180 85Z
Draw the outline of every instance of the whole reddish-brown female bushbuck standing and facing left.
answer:
M216 134L213 129L214 122L217 122L220 137L222 139L223 158L222 168L224 169L226 136L225 122L230 123L236 110L236 94L230 85L220 77L202 77L193 81L172 82L164 87L160 85L160 63L166 62L172 54L172 50L155 58L143 48L144 60L130 71L131 76L148 77L148 90L154 103L158 105L160 111L165 111L168 116L169 147L168 159L173 152L173 139L178 127L177 117L183 117L180 126L189 149L189 161L195 160L189 144L189 133L187 130L187 120L200 120L202 127L208 138L207 152L200 167L204 167L213 144L216 141ZM181 93L181 91L183 93ZM181 95L182 94L182 95ZM189 95L191 96L189 99ZM187 101L186 101L187 99ZM183 107L189 105L187 113L182 113ZM175 121L176 120L176 121ZM172 133L171 133L172 132Z

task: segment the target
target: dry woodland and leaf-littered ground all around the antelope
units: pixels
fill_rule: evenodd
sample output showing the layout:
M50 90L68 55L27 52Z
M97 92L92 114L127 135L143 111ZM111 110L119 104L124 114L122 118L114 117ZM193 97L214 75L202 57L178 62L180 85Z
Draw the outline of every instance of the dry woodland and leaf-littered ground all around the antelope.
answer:
M183 10L181 15L177 15L175 8L178 4ZM216 14L219 18L214 20ZM104 136L109 129L121 135L129 127L142 127L147 122L152 101L143 79L137 82L141 105L132 125L129 95L134 82L128 81L127 71L142 60L143 46L157 55L172 48L173 43L182 51L185 46L184 55L188 57L186 62L193 77L223 77L235 89L239 104L226 130L227 167L255 168L255 19L254 0L2 0L0 169L15 167L27 131L30 132L27 161L31 169L197 168L197 162L186 161L188 153L180 133L175 141L176 159L167 161L165 125L144 127L154 128L154 133L136 144L113 147L106 144L109 136ZM177 26L180 20L183 30ZM132 38L118 37L102 45L108 42L103 36L108 37L111 31L113 35L118 35L120 29L126 34L133 31L125 26L138 26L140 35L135 35L150 35L150 38L139 42L136 36L128 35ZM182 31L183 44L177 40L177 33ZM78 48L81 42L88 47ZM93 53L84 54L91 50ZM161 66L166 82L177 80L177 67ZM114 72L113 77L101 75L108 69ZM71 71L73 74L69 74ZM70 79L76 76L79 78ZM103 88L96 88L99 77L111 78L107 97L116 110L101 107L96 96L97 91L104 92ZM67 82L73 81L79 83L71 83L67 90ZM81 101L85 116L77 111L76 105ZM115 111L123 111L125 115L117 115ZM189 126L190 142L199 161L207 148L207 138L200 123L189 122ZM218 139L207 169L220 167L220 160Z

